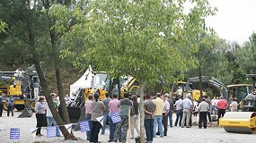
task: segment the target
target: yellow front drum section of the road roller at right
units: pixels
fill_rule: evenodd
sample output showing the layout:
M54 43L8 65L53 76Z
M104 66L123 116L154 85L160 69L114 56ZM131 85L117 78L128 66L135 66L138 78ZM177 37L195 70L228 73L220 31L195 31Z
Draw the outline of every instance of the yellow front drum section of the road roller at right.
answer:
M256 113L227 112L219 119L219 126L226 132L256 133Z

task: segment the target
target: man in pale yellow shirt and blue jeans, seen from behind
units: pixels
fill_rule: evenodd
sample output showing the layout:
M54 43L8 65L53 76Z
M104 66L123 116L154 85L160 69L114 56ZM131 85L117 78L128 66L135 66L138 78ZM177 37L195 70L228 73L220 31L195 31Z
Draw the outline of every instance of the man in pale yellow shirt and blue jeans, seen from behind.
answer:
M156 123L160 131L160 137L163 138L163 124L162 124L162 112L163 112L163 100L160 98L160 93L156 94L156 99L154 99L155 114L154 114L154 138L156 138Z

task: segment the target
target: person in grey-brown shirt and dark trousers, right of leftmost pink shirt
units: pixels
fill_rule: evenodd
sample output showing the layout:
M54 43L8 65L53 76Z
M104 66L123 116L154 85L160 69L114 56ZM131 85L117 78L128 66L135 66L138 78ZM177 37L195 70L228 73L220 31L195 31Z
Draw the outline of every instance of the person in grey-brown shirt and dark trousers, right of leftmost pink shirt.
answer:
M99 94L95 93L93 95L94 101L92 103L92 121L93 127L91 132L90 142L98 142L99 132L102 128L102 124L96 120L96 118L101 117L103 115L103 111L105 110L105 105L102 101L99 101Z

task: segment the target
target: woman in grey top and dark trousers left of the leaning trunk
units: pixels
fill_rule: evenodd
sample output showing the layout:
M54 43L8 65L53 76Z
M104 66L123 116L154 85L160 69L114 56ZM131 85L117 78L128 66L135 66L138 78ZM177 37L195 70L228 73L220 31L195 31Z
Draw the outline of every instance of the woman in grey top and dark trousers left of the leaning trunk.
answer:
M43 122L45 120L45 114L46 114L46 107L44 103L44 97L40 97L39 101L35 105L35 111L36 111L36 118L37 118L37 136L42 136L41 134L41 127L43 125Z

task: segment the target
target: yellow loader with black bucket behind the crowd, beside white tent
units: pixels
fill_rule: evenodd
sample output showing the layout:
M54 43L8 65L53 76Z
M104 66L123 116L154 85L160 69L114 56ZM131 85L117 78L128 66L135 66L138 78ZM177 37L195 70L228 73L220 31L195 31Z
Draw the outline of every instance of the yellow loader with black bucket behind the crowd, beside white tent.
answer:
M105 98L106 93L110 93L110 95L118 93L119 98L123 98L125 92L130 92L132 95L137 93L137 88L139 88L137 80L130 76L112 79L105 72L94 72L92 79L92 86L80 88L75 99L66 106L70 122L85 120L84 103L94 93L98 93L101 100ZM77 130L76 128L75 130Z

